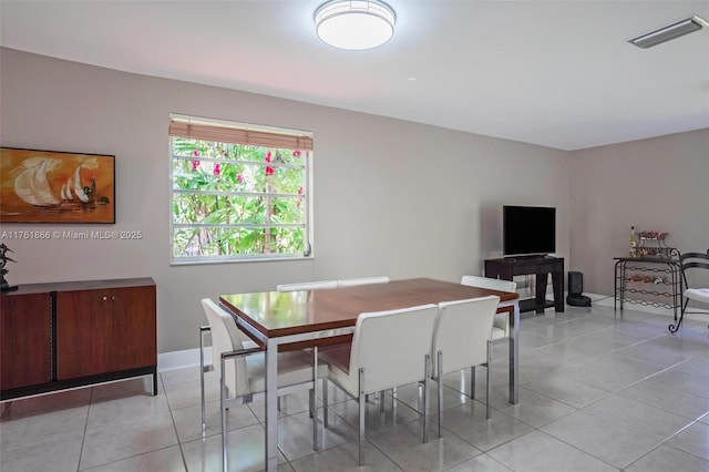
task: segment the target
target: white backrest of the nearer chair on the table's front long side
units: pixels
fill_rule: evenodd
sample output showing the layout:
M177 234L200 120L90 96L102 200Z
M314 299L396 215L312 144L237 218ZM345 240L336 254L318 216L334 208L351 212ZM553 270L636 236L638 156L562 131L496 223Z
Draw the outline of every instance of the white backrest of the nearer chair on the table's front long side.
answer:
M352 336L350 391L357 391L360 368L366 393L423 380L436 312L429 304L361 314Z

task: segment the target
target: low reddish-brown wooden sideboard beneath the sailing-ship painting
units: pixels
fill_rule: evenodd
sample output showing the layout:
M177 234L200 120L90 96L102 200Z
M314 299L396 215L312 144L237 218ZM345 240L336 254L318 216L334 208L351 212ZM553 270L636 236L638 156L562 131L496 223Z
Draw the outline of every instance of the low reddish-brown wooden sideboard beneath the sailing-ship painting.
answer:
M2 400L153 376L152 278L33 284L2 294Z

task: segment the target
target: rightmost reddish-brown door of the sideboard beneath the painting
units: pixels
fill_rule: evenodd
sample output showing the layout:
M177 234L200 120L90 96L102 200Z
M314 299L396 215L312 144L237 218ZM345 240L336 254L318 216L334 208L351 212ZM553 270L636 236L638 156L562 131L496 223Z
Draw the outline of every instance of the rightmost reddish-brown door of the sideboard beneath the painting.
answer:
M157 363L155 286L111 290L112 371Z

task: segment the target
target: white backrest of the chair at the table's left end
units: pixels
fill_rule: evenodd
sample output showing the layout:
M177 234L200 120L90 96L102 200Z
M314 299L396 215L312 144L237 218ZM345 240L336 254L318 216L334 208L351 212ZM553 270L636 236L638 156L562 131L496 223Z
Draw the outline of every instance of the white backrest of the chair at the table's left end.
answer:
M212 360L213 368L217 374L222 374L222 353L244 349L244 342L248 341L248 336L238 329L232 315L224 308L208 298L202 300L205 315L209 322L212 332ZM224 382L232 396L244 396L250 393L246 360L237 357L226 360L226 372Z

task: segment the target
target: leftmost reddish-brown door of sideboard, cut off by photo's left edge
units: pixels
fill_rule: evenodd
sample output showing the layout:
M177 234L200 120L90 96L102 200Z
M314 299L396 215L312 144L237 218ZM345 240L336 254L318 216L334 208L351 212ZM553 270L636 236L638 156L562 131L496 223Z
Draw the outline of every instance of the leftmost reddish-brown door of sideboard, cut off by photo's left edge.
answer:
M0 297L0 387L2 390L51 380L50 294Z

